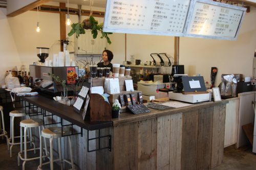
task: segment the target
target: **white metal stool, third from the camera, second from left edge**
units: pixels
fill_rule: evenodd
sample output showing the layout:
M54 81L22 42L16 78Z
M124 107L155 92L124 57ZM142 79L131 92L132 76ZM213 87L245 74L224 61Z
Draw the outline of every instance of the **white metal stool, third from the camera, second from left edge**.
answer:
M15 138L19 138L20 136L14 136L14 118L15 117L23 117L23 116L27 116L27 118L29 118L28 115L26 115L25 111L23 110L13 110L10 112L10 138L8 139L8 143L11 145L10 147L10 157L12 157L12 147L13 145L17 145L20 144L20 142L15 142L14 139ZM32 134L31 134L31 129L30 129L30 141L28 141L30 143L30 146L32 146L31 144L34 145L35 148L35 144L34 142L32 142Z

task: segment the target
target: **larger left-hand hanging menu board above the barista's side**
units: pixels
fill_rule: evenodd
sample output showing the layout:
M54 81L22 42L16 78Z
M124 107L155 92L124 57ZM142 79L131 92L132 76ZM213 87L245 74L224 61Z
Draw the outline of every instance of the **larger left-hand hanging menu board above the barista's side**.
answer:
M190 0L108 0L104 32L183 36Z

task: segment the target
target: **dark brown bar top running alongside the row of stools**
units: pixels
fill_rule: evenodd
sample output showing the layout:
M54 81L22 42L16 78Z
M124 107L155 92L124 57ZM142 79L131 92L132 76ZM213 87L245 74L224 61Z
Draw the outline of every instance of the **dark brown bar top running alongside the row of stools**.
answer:
M63 105L41 95L25 96L24 100L86 130L92 131L113 126L111 121L90 122L90 120L83 120L82 115L75 112L73 106Z

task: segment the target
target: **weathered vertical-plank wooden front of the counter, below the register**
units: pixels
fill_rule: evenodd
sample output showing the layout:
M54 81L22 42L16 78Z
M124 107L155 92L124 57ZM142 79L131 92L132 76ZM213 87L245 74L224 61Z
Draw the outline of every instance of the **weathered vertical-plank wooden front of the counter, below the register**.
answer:
M112 152L96 153L97 169L210 169L221 164L228 101L134 115L121 113ZM103 134L102 134L103 135Z

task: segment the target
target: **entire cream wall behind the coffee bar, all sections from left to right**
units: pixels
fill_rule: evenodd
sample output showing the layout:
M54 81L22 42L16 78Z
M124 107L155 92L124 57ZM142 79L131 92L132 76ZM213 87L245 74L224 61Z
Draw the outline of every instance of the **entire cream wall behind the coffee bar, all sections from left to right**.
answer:
M58 5L58 3L49 3L49 5ZM70 7L77 8L76 5ZM38 61L37 46L51 47L50 57L60 50L59 14L39 12L41 32L36 33L37 13L35 11L28 11L7 19L6 9L0 9L0 55L1 58L7 60L5 64L0 64L2 65L0 80L3 80L4 72L9 68L17 64L28 66ZM100 9L93 10L100 11ZM78 22L78 16L71 15L70 17L73 22ZM86 16L83 16L84 18ZM181 37L180 64L185 65L185 72L189 75L200 73L204 76L205 81L209 81L210 68L216 66L219 69L216 85L220 83L221 74L238 73L244 74L246 77L251 76L252 59L256 48L255 18L256 9L251 8L251 12L245 16L237 41ZM102 19L99 19L100 22ZM70 26L67 27L67 34L70 29ZM125 34L114 33L110 38L112 44L107 45L107 48L114 53L113 63L121 63L125 60ZM70 37L70 40L73 41L74 37ZM73 43L68 48L72 52ZM162 52L174 55L174 37L126 35L128 61L130 55L135 55L143 62L152 61L151 53Z

